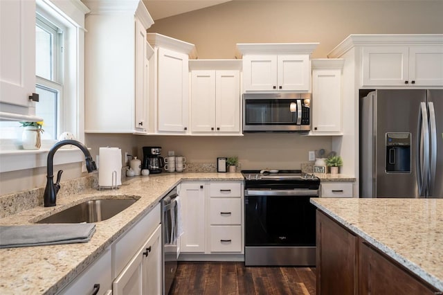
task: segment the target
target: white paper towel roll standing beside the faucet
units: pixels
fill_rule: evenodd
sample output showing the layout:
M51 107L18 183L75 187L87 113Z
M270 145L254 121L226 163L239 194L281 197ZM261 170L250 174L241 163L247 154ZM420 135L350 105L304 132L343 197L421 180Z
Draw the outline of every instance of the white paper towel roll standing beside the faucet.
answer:
M103 188L122 184L122 150L118 147L100 147L98 185Z

